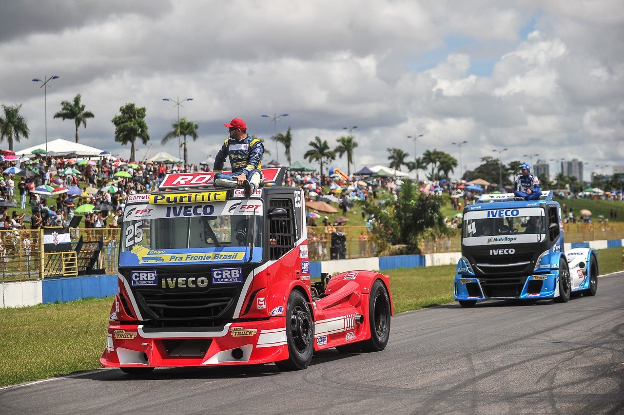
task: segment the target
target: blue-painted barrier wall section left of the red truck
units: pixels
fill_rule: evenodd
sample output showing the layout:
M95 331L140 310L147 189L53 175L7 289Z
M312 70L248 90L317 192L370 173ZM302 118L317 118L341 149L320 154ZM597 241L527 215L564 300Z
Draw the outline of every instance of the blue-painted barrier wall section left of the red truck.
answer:
M79 298L104 298L117 293L117 275L42 280L41 293L44 304Z

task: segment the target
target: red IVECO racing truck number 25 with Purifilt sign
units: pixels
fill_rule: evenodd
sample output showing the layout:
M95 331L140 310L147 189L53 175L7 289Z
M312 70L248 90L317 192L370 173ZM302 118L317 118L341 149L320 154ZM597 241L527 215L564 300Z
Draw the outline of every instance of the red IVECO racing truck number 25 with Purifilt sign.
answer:
M120 218L119 294L105 367L275 363L305 369L314 351L383 350L393 314L388 275L343 272L311 282L303 190L213 188L213 173L168 174Z

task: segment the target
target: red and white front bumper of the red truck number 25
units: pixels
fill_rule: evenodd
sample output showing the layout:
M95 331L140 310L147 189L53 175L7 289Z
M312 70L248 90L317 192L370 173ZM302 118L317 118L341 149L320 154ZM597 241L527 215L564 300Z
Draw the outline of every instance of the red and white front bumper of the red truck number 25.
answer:
M228 323L222 330L150 330L110 322L104 367L256 365L288 358L284 317Z

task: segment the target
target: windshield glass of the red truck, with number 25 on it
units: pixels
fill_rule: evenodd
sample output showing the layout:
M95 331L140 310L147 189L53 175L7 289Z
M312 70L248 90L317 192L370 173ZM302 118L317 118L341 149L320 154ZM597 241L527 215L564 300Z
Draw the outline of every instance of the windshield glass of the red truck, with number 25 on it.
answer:
M261 247L262 217L222 215L167 217L124 221L121 252L137 245L147 249L211 249L220 247Z

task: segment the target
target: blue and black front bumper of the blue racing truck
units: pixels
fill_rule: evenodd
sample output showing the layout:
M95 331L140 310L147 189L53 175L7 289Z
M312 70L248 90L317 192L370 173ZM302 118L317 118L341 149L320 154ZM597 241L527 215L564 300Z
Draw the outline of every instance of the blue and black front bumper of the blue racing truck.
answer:
M532 274L515 278L455 276L456 300L536 300L558 295L558 274Z

